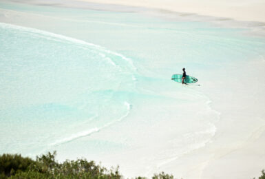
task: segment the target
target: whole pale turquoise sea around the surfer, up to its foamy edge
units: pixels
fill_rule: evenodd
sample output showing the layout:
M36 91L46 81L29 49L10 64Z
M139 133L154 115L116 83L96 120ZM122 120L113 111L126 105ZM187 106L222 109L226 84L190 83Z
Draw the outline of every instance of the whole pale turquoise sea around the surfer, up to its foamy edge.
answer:
M264 61L264 37L244 28L19 3L0 15L0 153L56 150L149 175L213 143L211 90ZM171 81L182 67L198 83Z

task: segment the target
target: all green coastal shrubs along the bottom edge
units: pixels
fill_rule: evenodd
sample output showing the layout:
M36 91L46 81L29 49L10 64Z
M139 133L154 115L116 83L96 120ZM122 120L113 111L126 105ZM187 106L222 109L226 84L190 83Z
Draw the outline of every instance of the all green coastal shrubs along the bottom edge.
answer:
M3 154L0 156L0 178L125 178L118 171L118 167L107 169L86 159L65 160L65 162L60 163L55 160L55 156L55 151L36 156L36 160L19 154ZM154 174L152 177L152 179L173 178L172 175L164 172ZM146 177L138 176L135 179L146 179ZM258 179L265 179L264 170Z

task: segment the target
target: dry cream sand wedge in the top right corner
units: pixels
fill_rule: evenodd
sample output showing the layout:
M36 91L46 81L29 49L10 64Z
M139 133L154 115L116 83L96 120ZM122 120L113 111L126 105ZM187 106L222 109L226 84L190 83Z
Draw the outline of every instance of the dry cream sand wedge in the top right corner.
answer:
M235 19L236 21L256 21L265 22L264 1L107 1L107 0L74 0L74 1L84 1L92 3L103 3L103 4L113 4L113 5L124 5L142 8L153 8L157 10L166 10L172 12L179 12L184 14L198 14L199 16L210 16L210 17L220 17Z

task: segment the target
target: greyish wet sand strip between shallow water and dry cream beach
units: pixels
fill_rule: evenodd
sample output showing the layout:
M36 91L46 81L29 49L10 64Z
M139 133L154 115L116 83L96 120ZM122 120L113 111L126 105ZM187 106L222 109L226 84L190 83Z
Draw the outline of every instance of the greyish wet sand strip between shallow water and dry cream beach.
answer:
M148 0L150 1L150 0ZM195 0L193 0L195 1ZM98 10L109 12L133 12L145 14L149 17L166 19L168 21L200 21L212 23L213 26L220 28L246 28L251 36L265 36L265 13L262 17L254 19L236 18L233 15L222 16L222 14L200 13L196 10L177 10L176 8L167 8L165 6L147 6L145 3L129 3L129 0L109 2L107 0L36 0L36 1L14 1L12 3L25 3L32 6L50 6L58 8L77 8L83 10ZM262 4L265 7L265 2ZM218 10L217 10L218 11ZM253 10L254 11L254 10Z

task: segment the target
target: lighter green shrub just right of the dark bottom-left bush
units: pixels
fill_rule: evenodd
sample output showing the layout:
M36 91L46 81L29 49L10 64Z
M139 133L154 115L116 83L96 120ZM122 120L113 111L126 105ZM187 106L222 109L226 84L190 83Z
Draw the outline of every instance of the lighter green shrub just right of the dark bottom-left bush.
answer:
M94 161L88 162L85 159L66 160L59 163L56 162L55 156L55 151L53 154L48 152L46 155L38 156L36 162L29 166L31 173L28 178L122 178L118 167L107 170L105 167L96 165ZM36 172L42 175L35 176Z

